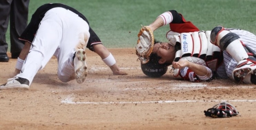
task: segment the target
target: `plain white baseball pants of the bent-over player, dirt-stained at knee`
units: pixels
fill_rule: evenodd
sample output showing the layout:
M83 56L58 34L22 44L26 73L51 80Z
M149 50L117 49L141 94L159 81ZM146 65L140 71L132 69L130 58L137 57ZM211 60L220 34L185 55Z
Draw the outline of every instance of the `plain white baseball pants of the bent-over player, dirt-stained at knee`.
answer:
M21 73L17 76L28 79L30 85L37 72L54 55L58 60L59 79L62 82L75 79L72 57L80 44L84 44L85 49L89 37L88 23L77 14L60 7L50 9L40 22Z

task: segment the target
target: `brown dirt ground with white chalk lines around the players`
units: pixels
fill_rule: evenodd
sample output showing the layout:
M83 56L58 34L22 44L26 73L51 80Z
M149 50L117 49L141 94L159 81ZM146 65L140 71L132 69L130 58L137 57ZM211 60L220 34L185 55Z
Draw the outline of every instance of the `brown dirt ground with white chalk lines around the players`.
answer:
M161 78L149 78L134 48L109 50L129 75L112 75L101 58L87 50L85 82L62 83L57 59L52 58L29 90L0 91L0 129L256 129L256 85L191 83L174 78L170 68ZM16 59L0 62L1 84L15 65ZM234 105L240 115L205 117L204 110L222 101Z

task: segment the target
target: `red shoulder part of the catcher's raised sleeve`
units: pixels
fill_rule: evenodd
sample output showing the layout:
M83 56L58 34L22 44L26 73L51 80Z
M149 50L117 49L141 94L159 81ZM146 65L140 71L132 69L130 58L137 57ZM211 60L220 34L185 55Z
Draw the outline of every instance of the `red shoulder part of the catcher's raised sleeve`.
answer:
M180 14L182 16L182 14ZM182 16L182 21L184 23L170 23L170 29L173 32L177 33L188 33L188 32L196 32L199 29L190 21L186 21Z

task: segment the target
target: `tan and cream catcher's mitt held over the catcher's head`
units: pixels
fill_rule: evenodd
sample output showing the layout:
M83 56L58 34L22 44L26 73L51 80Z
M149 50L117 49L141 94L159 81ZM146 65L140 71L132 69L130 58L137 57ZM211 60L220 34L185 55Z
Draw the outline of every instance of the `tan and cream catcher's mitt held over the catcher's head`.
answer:
M139 57L142 64L149 62L149 56L154 47L154 35L148 26L142 26L138 34L136 55Z

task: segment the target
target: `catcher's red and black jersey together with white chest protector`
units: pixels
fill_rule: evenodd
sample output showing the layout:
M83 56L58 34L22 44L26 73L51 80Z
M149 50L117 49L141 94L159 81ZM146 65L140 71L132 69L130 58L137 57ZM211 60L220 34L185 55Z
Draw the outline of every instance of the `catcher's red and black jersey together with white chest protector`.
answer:
M211 31L199 31L193 23L186 21L181 14L173 10L170 12L173 20L170 23L170 31L166 33L166 38L176 48L174 61L186 58L191 62L208 67L212 72L216 71L223 61L223 53L219 47L210 42ZM175 69L174 76L179 75L183 79L193 82L205 80L199 78L187 67L181 70Z

